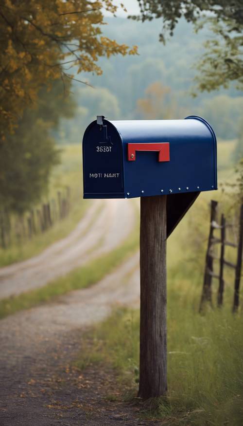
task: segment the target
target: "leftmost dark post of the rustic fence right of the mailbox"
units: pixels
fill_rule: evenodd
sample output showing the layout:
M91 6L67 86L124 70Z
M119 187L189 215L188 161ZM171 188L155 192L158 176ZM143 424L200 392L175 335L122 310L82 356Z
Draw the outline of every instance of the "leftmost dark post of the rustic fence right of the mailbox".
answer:
M212 276L209 274L209 272L213 273L213 257L211 255L211 248L213 246L212 244L213 229L214 229L213 222L215 222L217 218L217 205L218 205L217 201L211 200L210 231L209 231L209 237L208 237L208 249L206 254L203 292L202 292L199 312L201 312L205 301L210 302L210 304L212 305L212 289L211 289Z

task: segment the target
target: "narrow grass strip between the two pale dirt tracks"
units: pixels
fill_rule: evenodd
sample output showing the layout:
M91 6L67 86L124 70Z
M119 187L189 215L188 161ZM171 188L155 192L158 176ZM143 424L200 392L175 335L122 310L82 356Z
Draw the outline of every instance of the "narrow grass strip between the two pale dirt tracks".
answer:
M58 296L72 290L86 288L98 282L136 252L138 248L139 226L137 225L129 238L117 248L87 262L86 265L75 269L65 277L57 278L41 288L0 300L0 318L41 303L53 301Z

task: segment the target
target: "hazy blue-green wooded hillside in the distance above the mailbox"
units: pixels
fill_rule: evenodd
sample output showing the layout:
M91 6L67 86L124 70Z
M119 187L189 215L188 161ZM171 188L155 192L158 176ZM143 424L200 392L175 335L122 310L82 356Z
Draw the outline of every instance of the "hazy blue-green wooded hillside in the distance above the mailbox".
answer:
M199 93L196 98L189 94L195 75L193 64L200 58L203 43L210 37L208 30L195 34L192 25L181 20L174 37L164 46L158 41L159 20L141 23L107 18L106 22L104 35L120 43L138 45L139 56L101 58L99 65L103 75L78 74L77 78L89 81L94 89L74 82L73 92L79 108L74 121L63 122L65 139L80 138L80 127L86 127L96 114L109 118L143 118L138 111L138 99L148 96L146 89L156 81L171 88L171 97L167 101L174 106L175 118L192 113L203 115L215 127L219 137L237 137L243 111L242 93L231 88ZM157 104L154 118L166 118L163 115L166 105Z

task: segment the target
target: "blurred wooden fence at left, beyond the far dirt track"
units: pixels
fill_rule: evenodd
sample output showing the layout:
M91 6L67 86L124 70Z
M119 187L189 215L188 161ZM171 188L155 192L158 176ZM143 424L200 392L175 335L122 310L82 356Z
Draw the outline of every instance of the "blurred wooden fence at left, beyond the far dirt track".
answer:
M12 243L31 240L54 223L68 216L70 211L70 188L58 191L56 198L31 209L23 216L13 217L7 209L0 209L0 246L7 248Z

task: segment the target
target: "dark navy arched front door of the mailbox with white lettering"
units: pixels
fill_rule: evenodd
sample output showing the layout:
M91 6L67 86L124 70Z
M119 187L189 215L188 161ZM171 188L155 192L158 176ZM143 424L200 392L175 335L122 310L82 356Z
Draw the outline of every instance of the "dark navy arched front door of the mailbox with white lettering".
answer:
M84 198L124 198L121 137L109 122L104 126L94 121L84 134Z

